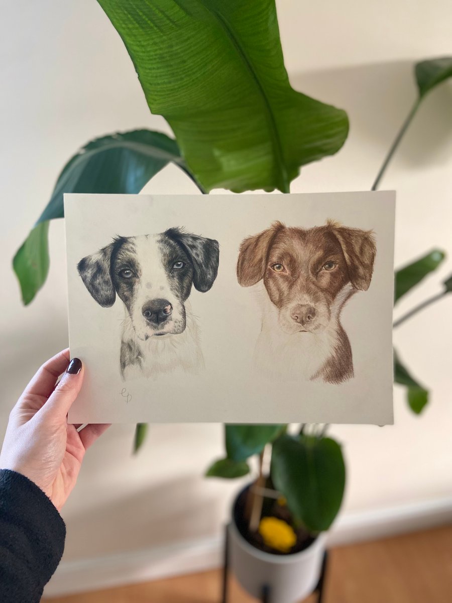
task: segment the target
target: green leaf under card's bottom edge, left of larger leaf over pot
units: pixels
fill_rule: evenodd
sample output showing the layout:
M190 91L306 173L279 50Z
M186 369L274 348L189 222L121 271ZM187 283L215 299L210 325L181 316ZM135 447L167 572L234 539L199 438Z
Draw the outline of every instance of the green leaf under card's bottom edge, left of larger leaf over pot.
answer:
M228 458L245 461L261 452L281 432L283 425L225 425Z

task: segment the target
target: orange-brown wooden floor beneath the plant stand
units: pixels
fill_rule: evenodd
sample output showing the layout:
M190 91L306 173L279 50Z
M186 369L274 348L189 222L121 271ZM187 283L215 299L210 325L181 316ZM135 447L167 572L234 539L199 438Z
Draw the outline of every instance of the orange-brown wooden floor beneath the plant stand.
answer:
M52 603L219 603L221 572L45 599ZM44 599L43 599L44 601ZM253 603L231 579L230 603ZM305 600L315 603L315 596ZM450 603L452 526L332 549L324 603Z

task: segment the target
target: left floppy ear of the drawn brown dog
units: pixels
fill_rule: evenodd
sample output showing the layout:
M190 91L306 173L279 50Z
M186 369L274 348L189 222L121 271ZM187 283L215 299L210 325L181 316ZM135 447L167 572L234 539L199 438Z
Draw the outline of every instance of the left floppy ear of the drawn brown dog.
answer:
M275 234L283 228L284 224L275 222L269 229L263 230L258 235L243 239L237 260L239 285L251 287L263 279L270 244Z

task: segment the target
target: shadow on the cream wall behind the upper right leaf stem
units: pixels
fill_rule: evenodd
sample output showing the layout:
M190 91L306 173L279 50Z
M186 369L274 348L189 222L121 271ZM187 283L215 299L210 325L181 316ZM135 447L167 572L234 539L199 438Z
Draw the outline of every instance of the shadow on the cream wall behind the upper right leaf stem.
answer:
M413 66L423 58L428 57L295 74L290 83L307 95L343 107L350 117L350 137L361 140L363 150L379 148L382 162L418 96ZM425 97L394 162L409 169L439 167L450 159L451 142L452 84L447 81ZM375 165L375 173L379 167Z

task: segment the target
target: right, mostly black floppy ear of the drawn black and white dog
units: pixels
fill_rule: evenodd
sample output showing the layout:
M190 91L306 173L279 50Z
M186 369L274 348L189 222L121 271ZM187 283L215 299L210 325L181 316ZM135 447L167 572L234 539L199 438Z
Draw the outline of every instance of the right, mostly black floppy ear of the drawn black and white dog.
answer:
M177 228L165 232L172 241L181 245L193 264L193 285L198 291L209 291L218 273L219 244L215 239L191 235Z

